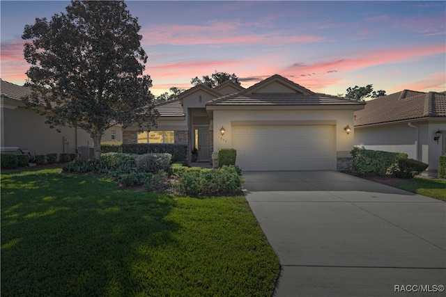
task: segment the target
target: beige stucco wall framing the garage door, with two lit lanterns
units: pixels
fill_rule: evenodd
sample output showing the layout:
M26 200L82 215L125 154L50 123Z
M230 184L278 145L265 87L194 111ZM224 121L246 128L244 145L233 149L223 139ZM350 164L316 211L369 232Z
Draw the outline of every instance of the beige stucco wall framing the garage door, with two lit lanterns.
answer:
M334 125L335 146L337 156L348 156L353 148L353 110L258 110L258 111L213 111L214 152L220 148L231 148L232 121L285 121L284 125ZM293 122L286 122L293 121ZM300 122L302 121L302 122ZM307 121L307 122L305 122ZM277 122L276 122L277 124ZM344 127L349 125L350 134L346 134ZM224 136L220 134L221 127L226 129Z

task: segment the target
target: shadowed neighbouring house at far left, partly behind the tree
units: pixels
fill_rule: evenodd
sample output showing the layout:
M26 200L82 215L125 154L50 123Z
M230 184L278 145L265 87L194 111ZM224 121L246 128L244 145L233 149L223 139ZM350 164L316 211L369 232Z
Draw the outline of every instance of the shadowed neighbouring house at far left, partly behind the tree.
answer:
M93 140L82 129L62 127L61 133L45 124L45 116L25 109L22 97L29 88L0 80L1 152L15 152L15 147L31 154L75 153L78 147L93 147ZM102 141L122 141L121 127L108 129Z

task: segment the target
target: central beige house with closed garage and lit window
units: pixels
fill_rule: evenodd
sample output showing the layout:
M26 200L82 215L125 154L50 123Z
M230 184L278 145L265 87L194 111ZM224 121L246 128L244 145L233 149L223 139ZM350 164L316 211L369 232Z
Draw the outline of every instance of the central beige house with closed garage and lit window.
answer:
M237 150L243 170L337 170L351 157L353 112L365 102L314 93L280 75L250 88L226 82L198 85L157 105L151 131L123 129L124 143L183 143L212 161L222 148ZM346 127L351 133L346 133Z

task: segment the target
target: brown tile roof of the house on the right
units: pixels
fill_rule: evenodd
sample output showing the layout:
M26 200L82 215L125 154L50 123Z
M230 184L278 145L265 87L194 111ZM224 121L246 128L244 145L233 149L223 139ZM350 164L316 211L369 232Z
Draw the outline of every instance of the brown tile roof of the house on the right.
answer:
M385 122L446 116L446 93L401 92L367 101L364 109L355 111L355 127Z

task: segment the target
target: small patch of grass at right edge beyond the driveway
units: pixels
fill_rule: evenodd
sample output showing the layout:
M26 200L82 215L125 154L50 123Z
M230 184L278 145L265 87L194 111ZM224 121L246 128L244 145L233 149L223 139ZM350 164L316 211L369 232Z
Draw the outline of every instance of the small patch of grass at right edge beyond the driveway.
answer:
M397 184L396 187L412 193L446 201L445 179L415 178L410 182Z

